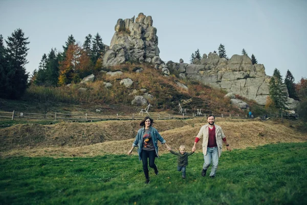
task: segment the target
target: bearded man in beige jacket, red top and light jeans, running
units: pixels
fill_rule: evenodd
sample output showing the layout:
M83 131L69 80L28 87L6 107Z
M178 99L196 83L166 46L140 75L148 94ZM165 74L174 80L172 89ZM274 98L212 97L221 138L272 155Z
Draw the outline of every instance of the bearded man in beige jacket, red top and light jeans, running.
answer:
M203 165L202 176L206 176L207 169L212 161L211 173L209 176L213 178L215 177L218 165L218 158L221 156L222 153L222 140L224 141L228 151L231 151L231 148L227 143L222 128L220 126L214 125L214 115L208 115L207 120L208 124L204 125L198 135L195 137L192 152L195 152L197 142L203 137L203 154L205 162Z

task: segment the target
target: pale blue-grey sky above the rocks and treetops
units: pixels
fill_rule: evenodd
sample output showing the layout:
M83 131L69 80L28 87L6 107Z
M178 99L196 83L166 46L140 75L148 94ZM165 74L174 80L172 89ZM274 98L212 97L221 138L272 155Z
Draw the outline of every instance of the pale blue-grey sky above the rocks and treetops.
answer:
M20 28L29 37L27 71L38 68L51 48L62 51L69 35L83 44L98 32L109 45L119 18L150 15L157 28L160 57L189 63L191 54L217 51L225 45L230 58L244 48L283 77L289 69L297 83L307 77L307 1L65 1L0 0L0 34L7 39Z

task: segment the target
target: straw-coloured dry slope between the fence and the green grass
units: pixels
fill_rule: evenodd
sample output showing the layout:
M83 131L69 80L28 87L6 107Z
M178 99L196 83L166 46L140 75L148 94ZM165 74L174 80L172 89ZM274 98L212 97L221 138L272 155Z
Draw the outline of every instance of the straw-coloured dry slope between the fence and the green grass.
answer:
M155 127L174 149L181 144L192 148L194 137L206 120L156 120ZM8 156L97 156L126 154L134 141L139 121L62 122L55 125L15 125L0 133L0 155ZM244 149L278 142L304 142L306 133L298 133L293 122L255 119L217 118L233 149ZM201 143L198 144L201 151ZM160 146L161 153L166 153ZM134 152L136 154L136 152Z

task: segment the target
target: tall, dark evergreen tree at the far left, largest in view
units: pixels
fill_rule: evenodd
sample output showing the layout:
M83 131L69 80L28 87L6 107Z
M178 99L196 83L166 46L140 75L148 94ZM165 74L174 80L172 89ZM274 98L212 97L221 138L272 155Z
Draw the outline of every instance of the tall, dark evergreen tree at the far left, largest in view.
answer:
M7 49L6 62L8 65L4 68L4 78L6 78L6 86L1 92L0 97L17 99L20 98L28 83L29 73L26 72L26 64L28 50L28 38L25 38L25 33L21 29L16 29L11 36L6 40Z

